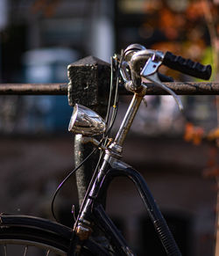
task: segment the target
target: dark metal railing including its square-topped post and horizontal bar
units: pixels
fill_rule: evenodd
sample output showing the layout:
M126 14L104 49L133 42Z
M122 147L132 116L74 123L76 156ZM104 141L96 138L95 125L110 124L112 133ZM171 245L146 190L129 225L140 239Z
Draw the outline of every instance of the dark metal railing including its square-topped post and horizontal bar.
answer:
M68 65L69 84L0 84L0 95L67 95L68 104L79 103L87 106L104 117L107 109L107 93L109 90L110 66L107 62L88 56L78 62ZM173 82L164 83L178 95L217 95L219 83L209 82ZM152 83L147 85L147 95L165 95L166 91ZM126 94L125 91L120 91ZM105 98L104 98L105 97ZM93 150L93 145L81 143L80 136L74 140L74 162L81 163L84 157ZM79 154L80 151L80 154ZM95 158L97 156L94 156ZM95 160L94 158L92 160ZM95 161L94 161L95 162ZM83 198L91 177L90 163L87 163L76 173L79 198Z

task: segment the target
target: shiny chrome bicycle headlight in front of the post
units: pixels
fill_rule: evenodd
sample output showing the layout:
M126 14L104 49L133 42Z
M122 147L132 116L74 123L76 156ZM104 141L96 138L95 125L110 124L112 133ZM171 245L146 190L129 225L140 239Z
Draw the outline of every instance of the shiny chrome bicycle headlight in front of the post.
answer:
M75 104L68 131L80 135L101 135L106 130L102 117L86 106Z

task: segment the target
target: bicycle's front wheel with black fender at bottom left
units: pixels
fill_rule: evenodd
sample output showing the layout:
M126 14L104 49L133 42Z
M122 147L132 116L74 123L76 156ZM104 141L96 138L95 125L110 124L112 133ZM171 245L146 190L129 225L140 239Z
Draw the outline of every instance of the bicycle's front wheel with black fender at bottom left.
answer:
M0 255L66 256L72 230L32 216L0 216ZM109 255L88 240L81 255Z

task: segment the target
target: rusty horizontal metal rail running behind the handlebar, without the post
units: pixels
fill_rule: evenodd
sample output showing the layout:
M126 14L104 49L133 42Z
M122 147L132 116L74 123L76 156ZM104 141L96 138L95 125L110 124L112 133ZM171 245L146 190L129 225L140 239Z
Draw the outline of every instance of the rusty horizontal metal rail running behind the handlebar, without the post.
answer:
M178 95L217 95L219 83L171 82L164 83ZM146 83L147 95L166 95L167 92L152 83ZM67 84L0 84L0 95L67 95ZM130 94L121 88L121 94Z

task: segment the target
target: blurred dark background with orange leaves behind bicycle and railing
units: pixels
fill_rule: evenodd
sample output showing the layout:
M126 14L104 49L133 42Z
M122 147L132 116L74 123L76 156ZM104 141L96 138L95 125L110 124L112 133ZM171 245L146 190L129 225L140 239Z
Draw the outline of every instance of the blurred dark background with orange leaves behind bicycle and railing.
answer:
M88 55L105 62L131 43L213 65L217 80L219 1L0 0L0 83L68 83L67 65ZM176 81L200 81L162 69ZM125 144L166 216L183 255L215 254L218 99L146 96ZM119 118L128 97L121 99ZM66 96L0 96L0 211L51 217L55 188L74 168ZM185 133L186 128L186 133ZM209 141L207 138L210 138ZM74 178L57 211L71 224ZM162 255L133 186L118 179L108 211L138 255ZM157 251L156 251L157 250Z

